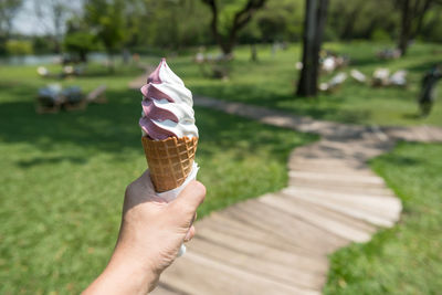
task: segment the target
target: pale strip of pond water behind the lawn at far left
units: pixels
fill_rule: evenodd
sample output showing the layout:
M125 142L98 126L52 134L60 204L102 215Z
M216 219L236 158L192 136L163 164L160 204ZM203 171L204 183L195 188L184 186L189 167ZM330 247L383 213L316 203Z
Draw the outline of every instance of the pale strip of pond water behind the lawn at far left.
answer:
M107 55L103 52L94 52L87 55L91 62L104 62ZM61 62L60 54L45 54L45 55L24 55L24 56L8 56L0 57L0 64L8 65L44 65L56 64Z

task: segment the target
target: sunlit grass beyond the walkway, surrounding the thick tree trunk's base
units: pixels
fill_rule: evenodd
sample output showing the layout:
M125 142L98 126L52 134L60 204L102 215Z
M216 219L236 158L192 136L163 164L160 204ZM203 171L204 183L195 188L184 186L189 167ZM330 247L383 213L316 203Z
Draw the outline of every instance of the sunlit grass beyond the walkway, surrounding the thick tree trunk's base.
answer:
M417 116L415 102L424 72L432 64L442 61L442 46L418 43L410 48L409 54L403 59L378 60L376 52L386 46L393 44L354 42L324 45L325 49L347 54L351 59L351 64L338 72L349 74L351 69L357 69L371 77L377 67L388 67L391 72L404 69L409 73L408 88L372 88L348 77L335 94L320 94L316 99L294 96L298 77L295 63L301 60L299 44L291 45L275 56L271 55L270 46L260 46L257 63L250 61L249 48L239 48L235 51L236 59L229 65L229 81L204 78L200 69L188 56L173 59L171 62L173 69L197 94L344 123L442 126L441 99L428 118ZM328 81L334 74L324 75L320 81ZM438 93L439 96L442 95L442 83L439 83Z

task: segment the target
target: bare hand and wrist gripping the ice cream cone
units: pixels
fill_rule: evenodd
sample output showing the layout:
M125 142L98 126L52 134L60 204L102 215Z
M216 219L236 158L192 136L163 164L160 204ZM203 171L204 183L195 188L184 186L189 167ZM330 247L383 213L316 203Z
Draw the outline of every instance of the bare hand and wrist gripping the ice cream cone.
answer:
M191 181L176 200L157 197L146 171L126 189L122 226L114 254L84 294L146 294L194 235L196 211L206 188Z

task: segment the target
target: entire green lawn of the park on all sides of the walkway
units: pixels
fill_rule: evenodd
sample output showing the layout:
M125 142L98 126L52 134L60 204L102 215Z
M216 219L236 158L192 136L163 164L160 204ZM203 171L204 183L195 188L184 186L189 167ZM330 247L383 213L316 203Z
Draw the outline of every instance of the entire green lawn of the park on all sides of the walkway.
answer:
M249 61L248 48L240 48L229 65L229 81L203 77L191 56L168 61L194 94L320 119L442 125L441 102L428 118L415 116L419 81L442 59L440 46L417 44L406 59L388 62L373 57L382 45L326 48L351 57L352 65L345 72L406 69L410 86L373 89L349 80L336 94L294 98L297 45L275 56L262 46L257 63ZM158 59L144 62L156 64ZM137 125L141 97L127 88L141 73L118 65L110 75L93 64L84 77L56 81L39 78L34 66L0 67L0 294L77 294L106 264L125 187L146 169ZM109 103L84 112L36 115L36 89L54 82L80 85L85 92L106 84ZM288 152L316 139L204 108L196 114L201 135L199 179L208 188L199 217L284 187ZM372 242L336 253L326 293L436 294L441 289L441 145L401 144L372 162L402 198L403 219Z

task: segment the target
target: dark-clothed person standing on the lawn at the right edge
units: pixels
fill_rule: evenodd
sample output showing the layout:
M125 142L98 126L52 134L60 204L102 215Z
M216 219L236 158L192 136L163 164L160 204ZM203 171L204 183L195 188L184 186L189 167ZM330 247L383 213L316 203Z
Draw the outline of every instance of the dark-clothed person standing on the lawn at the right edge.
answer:
M441 77L441 65L434 65L422 78L422 91L419 96L419 106L423 117L427 117L431 113L435 101L435 85Z

